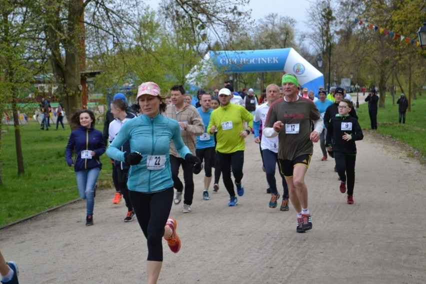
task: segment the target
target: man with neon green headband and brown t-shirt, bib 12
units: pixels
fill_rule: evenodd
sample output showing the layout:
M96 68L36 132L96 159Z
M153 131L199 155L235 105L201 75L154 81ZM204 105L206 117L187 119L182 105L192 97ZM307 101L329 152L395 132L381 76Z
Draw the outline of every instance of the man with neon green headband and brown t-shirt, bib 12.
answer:
M263 135L268 138L278 136L278 166L297 212L296 232L304 233L312 228L304 176L312 157L312 142L318 142L323 121L315 104L297 95L299 83L294 75L282 76L281 84L284 97L270 106Z

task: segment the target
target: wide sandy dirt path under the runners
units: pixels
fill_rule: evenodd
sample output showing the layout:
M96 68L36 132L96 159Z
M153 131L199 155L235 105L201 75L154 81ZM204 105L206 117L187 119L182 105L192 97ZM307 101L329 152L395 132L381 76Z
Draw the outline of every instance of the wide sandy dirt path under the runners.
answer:
M268 208L258 145L246 142L245 194L227 207L223 184L211 200L196 176L192 212L171 215L179 253L165 242L159 283L425 283L425 166L368 133L357 142L354 205L339 192L334 161L319 161L306 182L313 229L295 231L294 209ZM278 175L277 175L278 176ZM211 190L210 190L211 191ZM83 202L0 230L1 251L19 265L20 283L145 283L146 241L124 223L112 189L97 193L95 225L84 226Z

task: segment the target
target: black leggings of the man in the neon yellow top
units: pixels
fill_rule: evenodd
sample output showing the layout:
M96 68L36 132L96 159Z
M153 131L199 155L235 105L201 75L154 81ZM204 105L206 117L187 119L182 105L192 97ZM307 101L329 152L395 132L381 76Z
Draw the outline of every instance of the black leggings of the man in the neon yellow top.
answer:
M235 196L230 168L232 166L232 174L235 183L240 183L242 179L242 165L244 164L244 151L236 151L229 154L216 152L216 157L217 156L219 157L220 169L222 170L223 184L229 196Z

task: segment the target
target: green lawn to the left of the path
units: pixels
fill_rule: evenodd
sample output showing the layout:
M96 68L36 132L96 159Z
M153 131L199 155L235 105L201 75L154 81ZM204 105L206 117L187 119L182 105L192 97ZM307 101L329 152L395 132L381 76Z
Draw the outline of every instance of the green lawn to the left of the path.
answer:
M98 125L101 128L103 125ZM25 173L17 174L13 126L3 125L1 140L0 227L78 198L75 174L65 162L70 129L42 131L37 122L20 127ZM106 155L99 178L110 178Z

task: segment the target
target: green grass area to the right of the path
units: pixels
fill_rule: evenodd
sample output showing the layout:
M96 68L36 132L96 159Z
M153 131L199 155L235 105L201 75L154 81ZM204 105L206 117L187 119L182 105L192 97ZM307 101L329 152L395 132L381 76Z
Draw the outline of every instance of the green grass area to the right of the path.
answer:
M377 130L375 131L370 130L367 103L359 105L359 124L363 130L386 135L410 146L414 151L408 154L424 163L426 154L426 95L423 94L417 96L416 100L411 100L411 111L406 112L405 124L398 123L399 114L396 104L398 97L395 98L395 105L392 105L392 97L389 94L386 95L385 108L378 109ZM363 101L364 98L364 96L359 96L359 101ZM356 100L356 97L354 99Z

